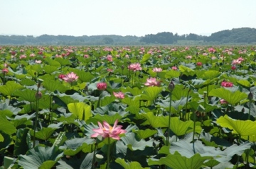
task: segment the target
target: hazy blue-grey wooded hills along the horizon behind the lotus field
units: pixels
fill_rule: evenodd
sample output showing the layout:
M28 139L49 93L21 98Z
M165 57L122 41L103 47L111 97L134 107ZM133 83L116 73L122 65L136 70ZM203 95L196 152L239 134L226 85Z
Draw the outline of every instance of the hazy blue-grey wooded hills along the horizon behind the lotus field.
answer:
M210 36L194 33L178 35L164 32L142 37L120 35L68 36L68 35L0 35L0 45L176 45L191 41L200 45L208 44L256 44L255 28L234 28L221 30Z

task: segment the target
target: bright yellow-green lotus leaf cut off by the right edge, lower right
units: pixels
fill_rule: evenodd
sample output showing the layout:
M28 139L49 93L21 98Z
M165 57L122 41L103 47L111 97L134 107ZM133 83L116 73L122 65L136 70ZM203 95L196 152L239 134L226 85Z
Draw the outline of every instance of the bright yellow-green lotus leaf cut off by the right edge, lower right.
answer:
M233 120L228 115L221 116L216 120L221 127L226 127L233 130L233 134L240 134L240 136L256 135L256 121L251 120Z

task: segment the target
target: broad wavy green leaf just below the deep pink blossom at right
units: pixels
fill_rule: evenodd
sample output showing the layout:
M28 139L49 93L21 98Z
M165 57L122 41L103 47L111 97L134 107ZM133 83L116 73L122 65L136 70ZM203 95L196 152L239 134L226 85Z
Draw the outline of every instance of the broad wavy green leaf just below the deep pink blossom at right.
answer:
M208 95L223 98L231 105L235 105L247 98L246 93L242 93L240 91L235 91L235 93L232 93L231 91L225 88L213 89L212 91L210 91Z

